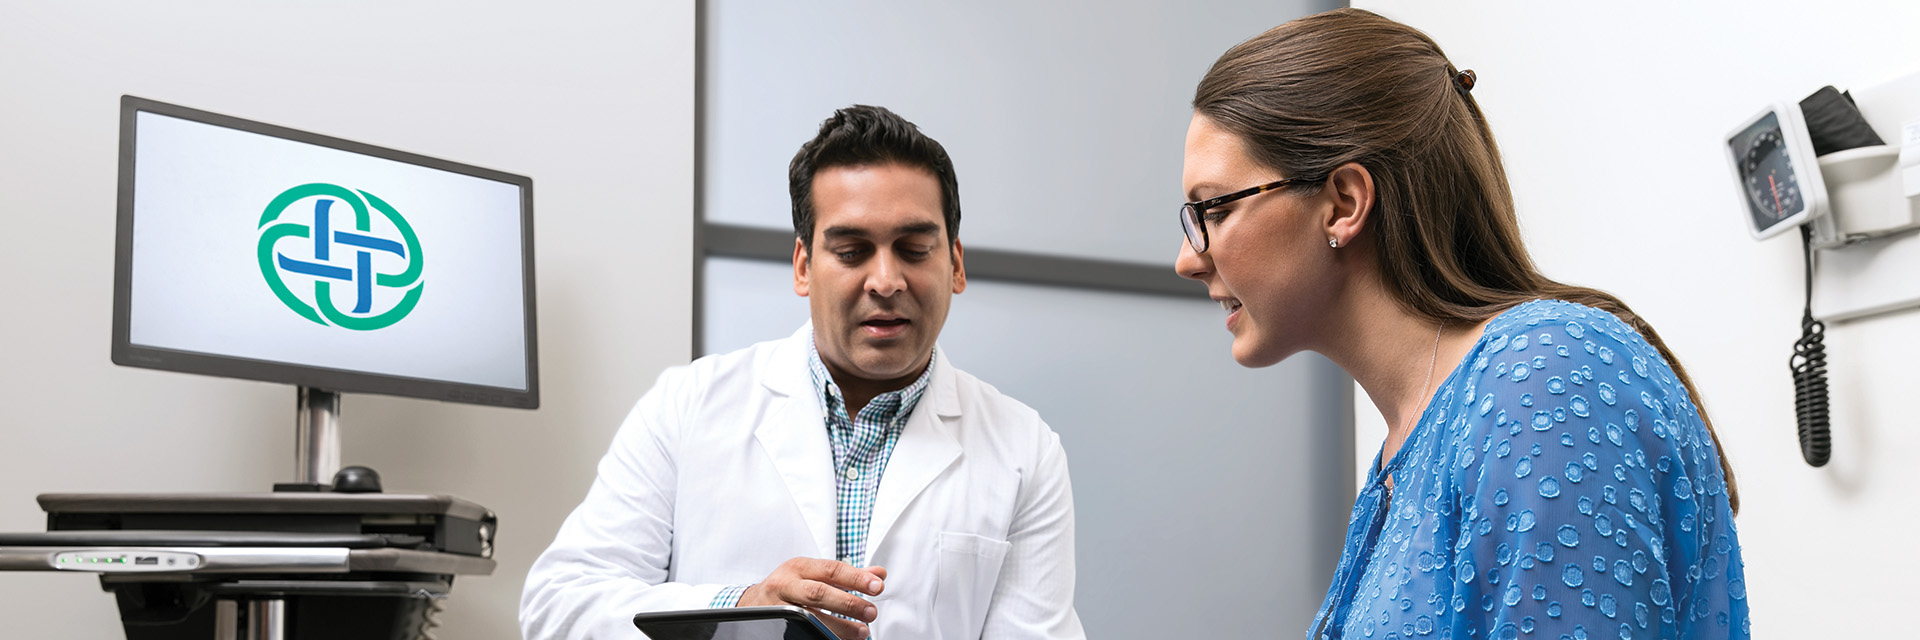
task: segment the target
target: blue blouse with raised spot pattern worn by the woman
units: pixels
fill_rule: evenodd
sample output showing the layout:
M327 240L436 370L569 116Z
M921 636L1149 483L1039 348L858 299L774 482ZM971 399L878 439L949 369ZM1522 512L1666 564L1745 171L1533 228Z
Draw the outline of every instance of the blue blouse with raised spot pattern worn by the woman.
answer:
M1373 467L1309 638L1747 638L1720 455L1611 313L1507 309Z

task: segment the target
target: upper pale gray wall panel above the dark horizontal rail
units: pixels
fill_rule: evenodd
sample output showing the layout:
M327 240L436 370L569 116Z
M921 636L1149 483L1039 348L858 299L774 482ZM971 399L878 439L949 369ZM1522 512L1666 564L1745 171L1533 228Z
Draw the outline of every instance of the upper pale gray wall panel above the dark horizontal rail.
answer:
M707 221L791 229L793 152L833 110L877 104L954 158L970 246L1171 265L1194 83L1334 6L707 2Z

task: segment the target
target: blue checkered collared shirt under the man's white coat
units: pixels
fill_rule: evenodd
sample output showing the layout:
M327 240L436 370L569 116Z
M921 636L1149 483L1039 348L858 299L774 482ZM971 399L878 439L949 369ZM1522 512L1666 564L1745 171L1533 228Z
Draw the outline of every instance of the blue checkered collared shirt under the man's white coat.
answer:
M937 348L933 357L941 357ZM806 371L812 375L814 390L820 392L820 400L826 406L828 440L833 442L835 521L839 530L835 554L843 563L866 567L866 527L874 519L874 496L879 494L879 477L887 471L893 446L900 442L900 429L914 415L920 396L927 390L927 381L933 379L933 359L927 359L927 369L912 384L874 396L860 409L860 415L852 417L847 415L847 398L841 396L839 384L833 384L833 375L828 371L826 361L820 359L820 350L814 348L812 338L806 342ZM747 586L751 584L722 588L710 605L720 609L739 603L739 596L747 592Z

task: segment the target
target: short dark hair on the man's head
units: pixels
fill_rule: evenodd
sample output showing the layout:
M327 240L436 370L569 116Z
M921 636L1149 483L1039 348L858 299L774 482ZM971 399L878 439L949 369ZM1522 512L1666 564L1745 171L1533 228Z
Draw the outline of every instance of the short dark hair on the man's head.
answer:
M947 242L960 238L960 181L954 161L941 142L887 108L854 104L820 123L820 135L787 165L787 194L793 198L793 234L814 248L814 175L833 167L900 163L920 167L941 183L941 213Z

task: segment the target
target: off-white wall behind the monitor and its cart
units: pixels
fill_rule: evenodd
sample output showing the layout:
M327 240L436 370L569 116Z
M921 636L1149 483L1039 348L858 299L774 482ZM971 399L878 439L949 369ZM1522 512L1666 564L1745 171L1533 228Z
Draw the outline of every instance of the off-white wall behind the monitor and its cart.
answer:
M689 352L693 4L0 4L0 530L42 492L292 480L294 390L108 361L121 94L534 177L541 409L346 396L344 461L499 513L444 638L518 638L526 567ZM92 577L0 573L8 638L119 638Z

